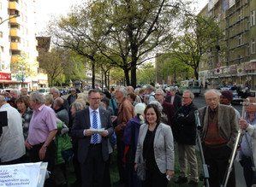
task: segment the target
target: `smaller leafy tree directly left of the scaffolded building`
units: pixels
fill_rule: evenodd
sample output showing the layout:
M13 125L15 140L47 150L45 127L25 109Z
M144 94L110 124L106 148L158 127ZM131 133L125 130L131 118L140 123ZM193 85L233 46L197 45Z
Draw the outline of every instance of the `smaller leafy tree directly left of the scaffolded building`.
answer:
M182 30L184 34L176 38L171 46L171 53L176 59L192 67L194 77L198 79L201 57L207 54L209 49L218 54L218 40L223 38L223 35L214 20L191 15L187 15Z

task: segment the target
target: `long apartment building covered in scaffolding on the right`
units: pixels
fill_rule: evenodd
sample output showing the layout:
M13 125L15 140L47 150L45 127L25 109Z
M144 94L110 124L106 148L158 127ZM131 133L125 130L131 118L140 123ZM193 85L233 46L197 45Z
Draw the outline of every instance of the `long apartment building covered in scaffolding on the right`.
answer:
M256 89L256 1L210 0L199 13L211 17L223 32L223 49L211 51L199 66L199 79L212 87L245 85Z

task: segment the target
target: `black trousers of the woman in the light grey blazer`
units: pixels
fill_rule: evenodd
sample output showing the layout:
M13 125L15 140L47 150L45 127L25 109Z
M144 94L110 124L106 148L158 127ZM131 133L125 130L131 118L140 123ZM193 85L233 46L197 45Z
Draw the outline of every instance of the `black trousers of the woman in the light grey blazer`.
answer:
M168 179L166 174L156 169L154 171L146 170L146 187L166 187L168 184Z

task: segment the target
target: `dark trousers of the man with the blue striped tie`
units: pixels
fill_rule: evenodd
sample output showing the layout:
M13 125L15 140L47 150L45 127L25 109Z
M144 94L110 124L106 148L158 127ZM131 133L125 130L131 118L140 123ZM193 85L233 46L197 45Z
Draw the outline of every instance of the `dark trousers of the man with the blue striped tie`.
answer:
M102 144L90 145L86 161L80 164L82 187L103 186L104 160L102 157Z

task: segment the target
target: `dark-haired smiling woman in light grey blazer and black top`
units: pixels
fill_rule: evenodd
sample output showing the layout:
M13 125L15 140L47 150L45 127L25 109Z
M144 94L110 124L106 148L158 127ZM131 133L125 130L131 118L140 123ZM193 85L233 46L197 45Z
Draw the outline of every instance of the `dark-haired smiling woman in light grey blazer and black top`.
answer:
M161 114L155 104L147 105L146 124L140 126L134 169L145 162L147 187L167 186L174 176L174 143L170 126L160 123Z

